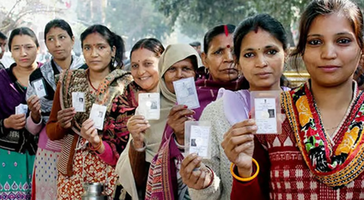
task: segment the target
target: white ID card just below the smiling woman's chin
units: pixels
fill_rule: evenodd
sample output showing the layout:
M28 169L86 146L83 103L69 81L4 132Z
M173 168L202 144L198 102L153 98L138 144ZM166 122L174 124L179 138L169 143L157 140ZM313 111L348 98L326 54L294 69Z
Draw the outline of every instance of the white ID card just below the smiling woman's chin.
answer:
M158 93L139 93L138 112L147 120L158 120L161 110L161 97Z

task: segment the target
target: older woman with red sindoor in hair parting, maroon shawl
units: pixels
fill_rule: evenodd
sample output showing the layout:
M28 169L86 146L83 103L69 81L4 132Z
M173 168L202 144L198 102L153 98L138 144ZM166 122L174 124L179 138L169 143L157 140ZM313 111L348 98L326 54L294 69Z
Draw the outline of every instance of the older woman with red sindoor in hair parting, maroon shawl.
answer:
M205 34L204 52L202 53L202 61L205 66L201 68L205 68L208 73L204 73L203 77L196 81L200 107L190 110L184 105L176 105L171 109L161 148L152 160L147 186L148 199L154 196L159 198L170 196L173 199L189 198L187 186L182 183L178 173L180 162L183 159L181 151L183 152L184 149L184 122L186 120L198 120L203 108L216 99L219 88L236 90L249 86L242 83L242 78L238 78L237 67L233 63L232 33L234 29L234 25L218 25ZM153 170L159 170L160 167L162 167L163 176L166 177L163 180L157 180L158 176L152 175L155 173ZM164 168L168 170L164 170ZM153 184L156 181L163 181L162 184L170 188L173 193L169 194L168 189L158 190L157 187L154 188Z

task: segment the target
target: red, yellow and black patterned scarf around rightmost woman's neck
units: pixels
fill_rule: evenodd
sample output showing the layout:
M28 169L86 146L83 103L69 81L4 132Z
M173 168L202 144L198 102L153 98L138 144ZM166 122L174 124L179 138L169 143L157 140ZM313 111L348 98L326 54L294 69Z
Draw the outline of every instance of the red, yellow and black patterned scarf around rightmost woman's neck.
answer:
M353 83L353 98L331 143L309 88L309 81L282 94L283 108L305 162L315 177L333 188L354 180L364 169L364 94Z

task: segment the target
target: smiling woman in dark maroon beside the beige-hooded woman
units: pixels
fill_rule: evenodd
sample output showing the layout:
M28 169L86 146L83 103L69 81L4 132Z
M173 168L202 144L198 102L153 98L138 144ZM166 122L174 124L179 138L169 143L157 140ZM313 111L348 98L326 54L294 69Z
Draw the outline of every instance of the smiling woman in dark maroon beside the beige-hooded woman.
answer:
M155 38L141 39L134 44L131 50L131 73L134 80L128 84L123 94L117 95L112 100L111 110L105 123L105 129L107 131L118 134L119 138L122 139L123 142L117 146L120 151L124 151L124 149L127 148L127 152L129 152L128 148L130 148L130 146L127 144L130 140L130 133L127 128L127 122L128 119L136 113L136 109L139 104L139 93L146 94L158 91L158 61L163 51L163 44ZM141 153L138 155L140 154ZM127 174L121 172L119 173L119 181L122 183L123 181L128 181L133 178L132 176L134 174L136 187L145 188L144 182L146 175L143 173L143 168L145 168L145 158L142 157L140 159L140 156L138 155L132 156L130 161L130 163L136 163L133 167L133 172L135 173L130 172ZM118 166L119 165L117 165L116 170L119 169ZM119 171L117 170L117 172ZM128 178L127 175L130 175L130 177ZM123 186L125 189L130 188L125 183L123 185L118 185L116 188L115 198L118 199L120 192L122 192ZM125 199L131 199L129 193L133 195L133 192L130 192L129 190Z

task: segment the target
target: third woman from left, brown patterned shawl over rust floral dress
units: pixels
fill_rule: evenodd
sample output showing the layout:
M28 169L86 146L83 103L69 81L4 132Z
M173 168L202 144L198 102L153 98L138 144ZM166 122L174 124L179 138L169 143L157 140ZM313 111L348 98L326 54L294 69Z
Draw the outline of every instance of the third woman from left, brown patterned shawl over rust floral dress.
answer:
M57 163L57 199L80 199L83 184L100 182L111 199L117 175L114 165L123 144L119 133L96 130L89 119L93 104L111 109L111 100L132 80L123 66L123 39L106 26L92 25L81 34L87 70L64 70L60 76L46 132L51 140L64 138ZM72 93L83 92L85 112L72 107ZM101 116L102 117L102 116ZM103 123L102 123L103 124Z

